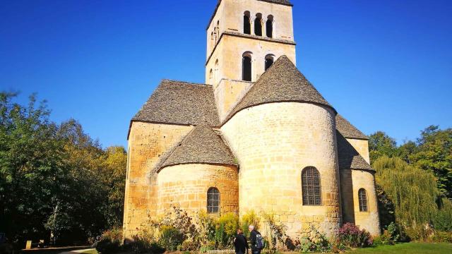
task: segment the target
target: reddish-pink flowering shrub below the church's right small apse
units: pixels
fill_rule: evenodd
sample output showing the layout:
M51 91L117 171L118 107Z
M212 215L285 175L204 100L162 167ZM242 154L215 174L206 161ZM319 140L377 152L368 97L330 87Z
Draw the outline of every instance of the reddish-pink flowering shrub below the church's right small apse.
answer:
M351 248L367 247L373 243L369 232L364 229L360 230L358 226L350 222L338 229L336 237L340 245Z

